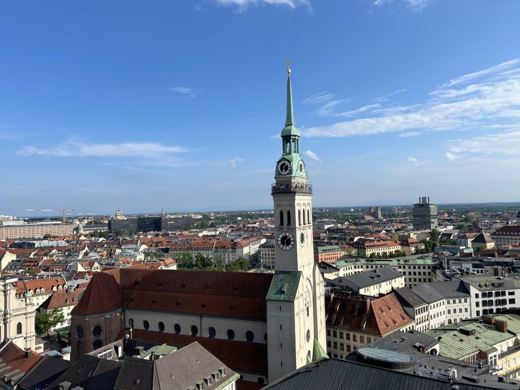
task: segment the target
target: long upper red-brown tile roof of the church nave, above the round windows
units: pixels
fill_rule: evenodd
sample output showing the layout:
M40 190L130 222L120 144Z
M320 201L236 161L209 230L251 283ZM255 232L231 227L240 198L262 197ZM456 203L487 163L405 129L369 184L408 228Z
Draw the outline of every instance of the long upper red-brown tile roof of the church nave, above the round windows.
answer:
M265 321L271 279L272 274L123 268L121 302L126 308Z

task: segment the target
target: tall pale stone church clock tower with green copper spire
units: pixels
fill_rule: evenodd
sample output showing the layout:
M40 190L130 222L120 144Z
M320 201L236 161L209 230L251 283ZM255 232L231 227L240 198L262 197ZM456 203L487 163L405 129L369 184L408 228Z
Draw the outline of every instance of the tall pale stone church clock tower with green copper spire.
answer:
M313 191L300 155L287 64L287 118L271 187L276 272L266 297L269 382L327 355L323 279L313 253Z

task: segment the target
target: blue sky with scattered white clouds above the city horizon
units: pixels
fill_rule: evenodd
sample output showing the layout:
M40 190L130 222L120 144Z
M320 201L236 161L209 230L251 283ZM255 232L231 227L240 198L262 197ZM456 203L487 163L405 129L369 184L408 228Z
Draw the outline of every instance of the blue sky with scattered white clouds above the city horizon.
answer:
M287 57L315 205L518 200L519 1L0 7L0 214L270 207Z

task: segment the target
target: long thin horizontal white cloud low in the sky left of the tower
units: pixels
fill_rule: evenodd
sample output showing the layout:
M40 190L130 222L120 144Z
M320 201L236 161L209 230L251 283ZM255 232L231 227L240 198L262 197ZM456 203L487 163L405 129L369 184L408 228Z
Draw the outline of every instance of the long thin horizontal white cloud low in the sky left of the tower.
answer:
M40 155L44 157L140 157L157 158L172 153L182 153L187 150L180 146L166 146L155 143L125 142L123 144L83 144L65 142L61 146L40 149L34 146L24 146L16 154Z

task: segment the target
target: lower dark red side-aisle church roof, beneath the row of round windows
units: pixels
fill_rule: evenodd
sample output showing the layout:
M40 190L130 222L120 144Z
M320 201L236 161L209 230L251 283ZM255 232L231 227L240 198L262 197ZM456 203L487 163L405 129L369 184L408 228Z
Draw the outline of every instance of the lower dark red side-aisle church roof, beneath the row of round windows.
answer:
M124 335L129 334L129 332L129 329L124 329L115 336L114 341L123 339ZM263 335L259 336L263 337ZM184 347L197 341L231 370L267 375L267 344L210 339L209 337L152 332L141 329L133 329L132 337L133 339L151 343L170 344L179 347Z

